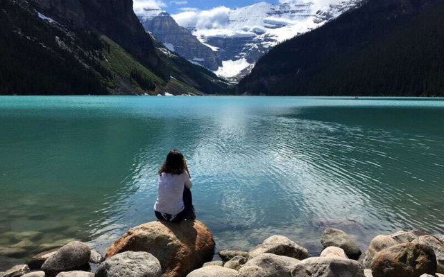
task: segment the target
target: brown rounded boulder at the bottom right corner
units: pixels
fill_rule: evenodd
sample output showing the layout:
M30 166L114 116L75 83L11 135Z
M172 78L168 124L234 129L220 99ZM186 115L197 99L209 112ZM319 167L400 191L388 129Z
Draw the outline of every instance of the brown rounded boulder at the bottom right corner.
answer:
M425 244L402 243L382 250L373 259L374 277L418 277L436 272L436 256Z

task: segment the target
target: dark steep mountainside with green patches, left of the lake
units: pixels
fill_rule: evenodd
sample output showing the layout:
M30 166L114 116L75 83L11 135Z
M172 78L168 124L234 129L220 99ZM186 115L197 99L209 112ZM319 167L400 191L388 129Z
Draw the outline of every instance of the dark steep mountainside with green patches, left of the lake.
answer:
M146 33L131 0L0 0L3 94L227 93Z

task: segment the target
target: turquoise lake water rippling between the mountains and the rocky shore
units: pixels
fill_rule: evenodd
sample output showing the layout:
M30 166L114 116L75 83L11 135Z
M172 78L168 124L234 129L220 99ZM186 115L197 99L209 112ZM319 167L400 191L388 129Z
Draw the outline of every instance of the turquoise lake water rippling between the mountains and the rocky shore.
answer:
M1 97L0 269L69 239L105 251L155 220L171 149L218 249L280 234L314 255L327 226L363 248L444 233L444 100Z

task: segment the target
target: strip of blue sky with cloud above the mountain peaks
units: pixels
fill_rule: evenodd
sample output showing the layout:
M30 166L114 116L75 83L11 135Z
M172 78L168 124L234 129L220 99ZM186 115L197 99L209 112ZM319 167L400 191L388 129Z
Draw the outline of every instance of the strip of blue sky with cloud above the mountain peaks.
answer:
M171 15L190 8L210 10L215 7L240 8L260 2L261 0L134 0L135 7L160 7ZM263 1L263 0L262 0ZM278 0L266 0L268 3L278 3Z

